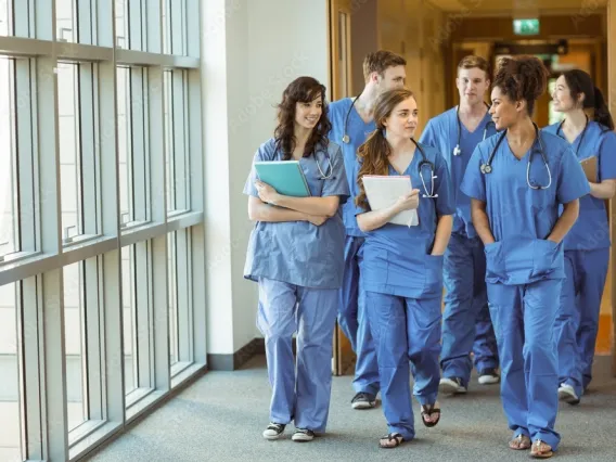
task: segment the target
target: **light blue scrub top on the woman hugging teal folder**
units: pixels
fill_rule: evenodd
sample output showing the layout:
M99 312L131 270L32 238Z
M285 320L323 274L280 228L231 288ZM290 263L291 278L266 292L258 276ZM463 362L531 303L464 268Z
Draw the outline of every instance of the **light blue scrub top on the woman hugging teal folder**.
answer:
M319 145L316 156L325 176L330 174L330 167L333 172L329 179L321 179L315 154L299 161L311 195L337 195L341 205L344 204L349 190L341 147L335 143L330 143L326 149ZM253 159L244 194L259 196L255 188L258 179L255 162L282 161L282 157L273 139L261 144ZM253 281L267 278L303 287L339 288L344 271L344 244L341 208L320 227L309 221L257 221L248 241L244 278Z

